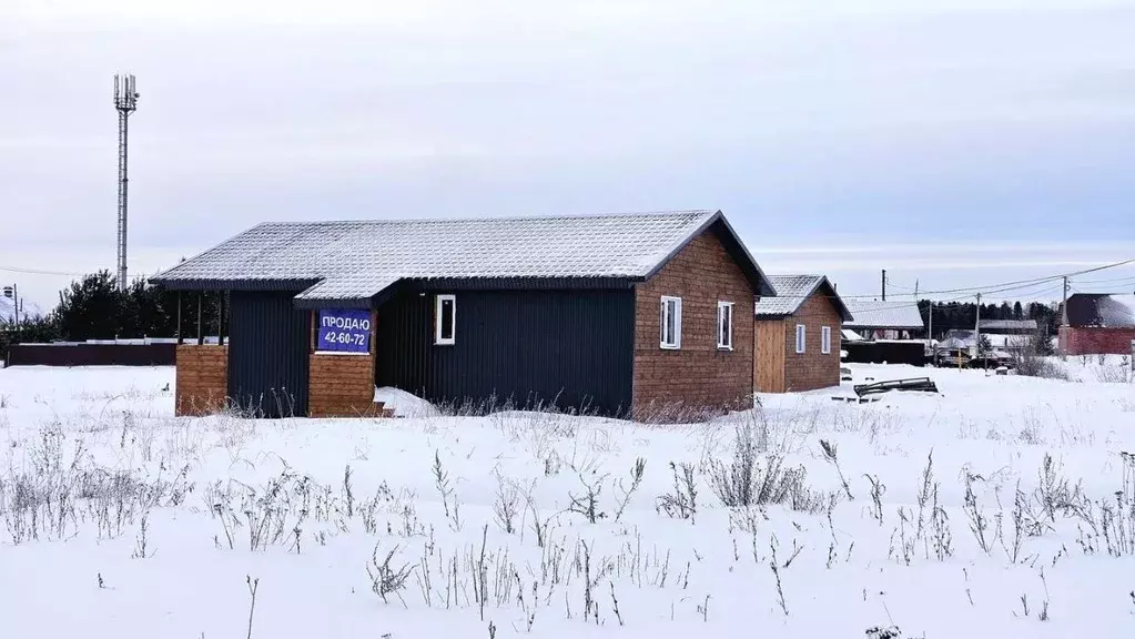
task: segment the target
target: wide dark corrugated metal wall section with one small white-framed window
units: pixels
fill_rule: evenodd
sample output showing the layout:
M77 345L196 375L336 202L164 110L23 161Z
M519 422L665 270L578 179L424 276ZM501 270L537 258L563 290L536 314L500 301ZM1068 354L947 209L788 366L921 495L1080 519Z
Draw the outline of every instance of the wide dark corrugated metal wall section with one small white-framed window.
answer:
M379 385L436 403L630 409L632 291L465 291L456 300L453 346L434 345L432 294L379 308Z

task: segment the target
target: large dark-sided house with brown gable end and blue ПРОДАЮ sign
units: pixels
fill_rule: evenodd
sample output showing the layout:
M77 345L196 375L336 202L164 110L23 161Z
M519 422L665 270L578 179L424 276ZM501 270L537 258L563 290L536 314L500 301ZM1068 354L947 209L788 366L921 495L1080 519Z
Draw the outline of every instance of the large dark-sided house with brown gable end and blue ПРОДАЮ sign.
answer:
M712 210L262 224L155 281L227 294L217 345L200 326L182 343L178 309L178 414L264 417L389 414L377 387L634 418L745 407L747 313L775 294Z

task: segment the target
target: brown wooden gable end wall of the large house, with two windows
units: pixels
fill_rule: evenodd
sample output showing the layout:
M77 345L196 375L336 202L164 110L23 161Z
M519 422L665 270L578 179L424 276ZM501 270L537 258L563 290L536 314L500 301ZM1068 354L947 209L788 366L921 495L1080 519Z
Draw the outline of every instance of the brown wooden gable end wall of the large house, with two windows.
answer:
M663 295L682 299L682 347L659 347ZM717 302L733 302L733 350L717 348ZM753 405L753 288L712 232L691 241L634 291L633 413Z

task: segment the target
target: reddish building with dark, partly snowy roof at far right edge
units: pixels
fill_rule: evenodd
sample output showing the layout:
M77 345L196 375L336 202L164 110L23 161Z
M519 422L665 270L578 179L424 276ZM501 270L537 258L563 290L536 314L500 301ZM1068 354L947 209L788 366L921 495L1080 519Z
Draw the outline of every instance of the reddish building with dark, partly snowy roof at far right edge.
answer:
M1067 355L1133 354L1135 295L1076 293L1060 313L1060 352Z

